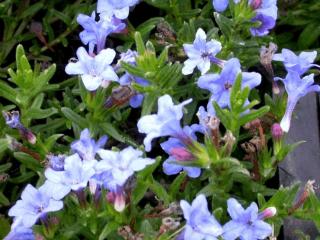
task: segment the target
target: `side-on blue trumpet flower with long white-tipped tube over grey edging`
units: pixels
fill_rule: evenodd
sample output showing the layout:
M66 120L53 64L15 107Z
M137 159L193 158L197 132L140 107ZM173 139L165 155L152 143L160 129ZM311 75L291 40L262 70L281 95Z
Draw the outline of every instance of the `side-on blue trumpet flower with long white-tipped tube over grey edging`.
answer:
M292 112L299 99L310 92L320 92L320 86L313 85L314 74L310 74L301 79L299 73L293 71L289 71L285 79L275 78L275 80L281 80L288 93L286 112L280 122L282 130L288 132L290 129Z

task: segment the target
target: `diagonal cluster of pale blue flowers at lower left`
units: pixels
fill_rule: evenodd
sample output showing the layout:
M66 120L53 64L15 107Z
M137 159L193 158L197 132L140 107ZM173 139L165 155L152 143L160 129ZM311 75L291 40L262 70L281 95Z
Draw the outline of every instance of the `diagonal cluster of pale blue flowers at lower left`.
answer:
M83 193L90 183L94 185L94 194L103 188L114 195L115 209L125 208L124 185L134 172L153 164L155 160L142 157L140 150L127 147L119 152L104 150L107 137L95 142L85 129L80 139L71 144L74 154L70 156L50 156L49 167L45 171L46 181L38 189L28 185L19 200L10 210L14 217L11 236L31 235L31 227L40 219L46 222L48 213L63 208L62 199L70 192L75 193L79 203L83 204ZM100 161L98 161L99 156ZM99 194L98 194L99 195ZM15 239L15 238L13 238Z

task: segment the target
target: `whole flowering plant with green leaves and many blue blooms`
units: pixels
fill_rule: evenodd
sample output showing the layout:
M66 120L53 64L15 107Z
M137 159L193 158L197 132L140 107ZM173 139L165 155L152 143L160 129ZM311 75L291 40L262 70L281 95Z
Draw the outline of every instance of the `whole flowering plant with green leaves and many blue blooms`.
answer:
M0 81L4 239L276 239L287 217L320 229L314 181L269 184L301 143L284 140L296 104L320 91L315 51L269 43L276 0L98 0L87 14L70 79L19 45Z

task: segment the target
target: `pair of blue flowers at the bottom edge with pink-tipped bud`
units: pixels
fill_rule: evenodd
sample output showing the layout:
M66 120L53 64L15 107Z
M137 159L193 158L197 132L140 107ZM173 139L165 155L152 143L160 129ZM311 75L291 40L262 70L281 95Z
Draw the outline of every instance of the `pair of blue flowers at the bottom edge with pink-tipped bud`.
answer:
M209 212L208 203L203 194L198 195L191 205L181 200L180 206L186 220L186 227L181 233L181 239L203 240L222 237L225 240L238 238L258 240L265 239L272 234L272 227L263 220L276 214L274 207L258 213L259 209L256 203L252 203L247 209L244 209L236 199L230 198L227 204L228 213L232 220L221 226Z

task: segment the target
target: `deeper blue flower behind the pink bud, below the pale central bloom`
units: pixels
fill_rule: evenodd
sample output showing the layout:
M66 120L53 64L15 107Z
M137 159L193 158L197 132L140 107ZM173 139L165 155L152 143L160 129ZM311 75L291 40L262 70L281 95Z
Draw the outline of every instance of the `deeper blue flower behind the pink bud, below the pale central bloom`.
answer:
M198 131L198 125L191 127L185 126L183 132L190 140L196 140L195 132ZM169 154L169 158L163 163L163 171L167 175L174 175L181 171L185 171L189 177L197 178L201 174L201 169L197 167L186 167L171 163L172 161L188 161L193 160L194 156L187 149L185 143L179 138L169 138L168 141L160 144L161 148Z

